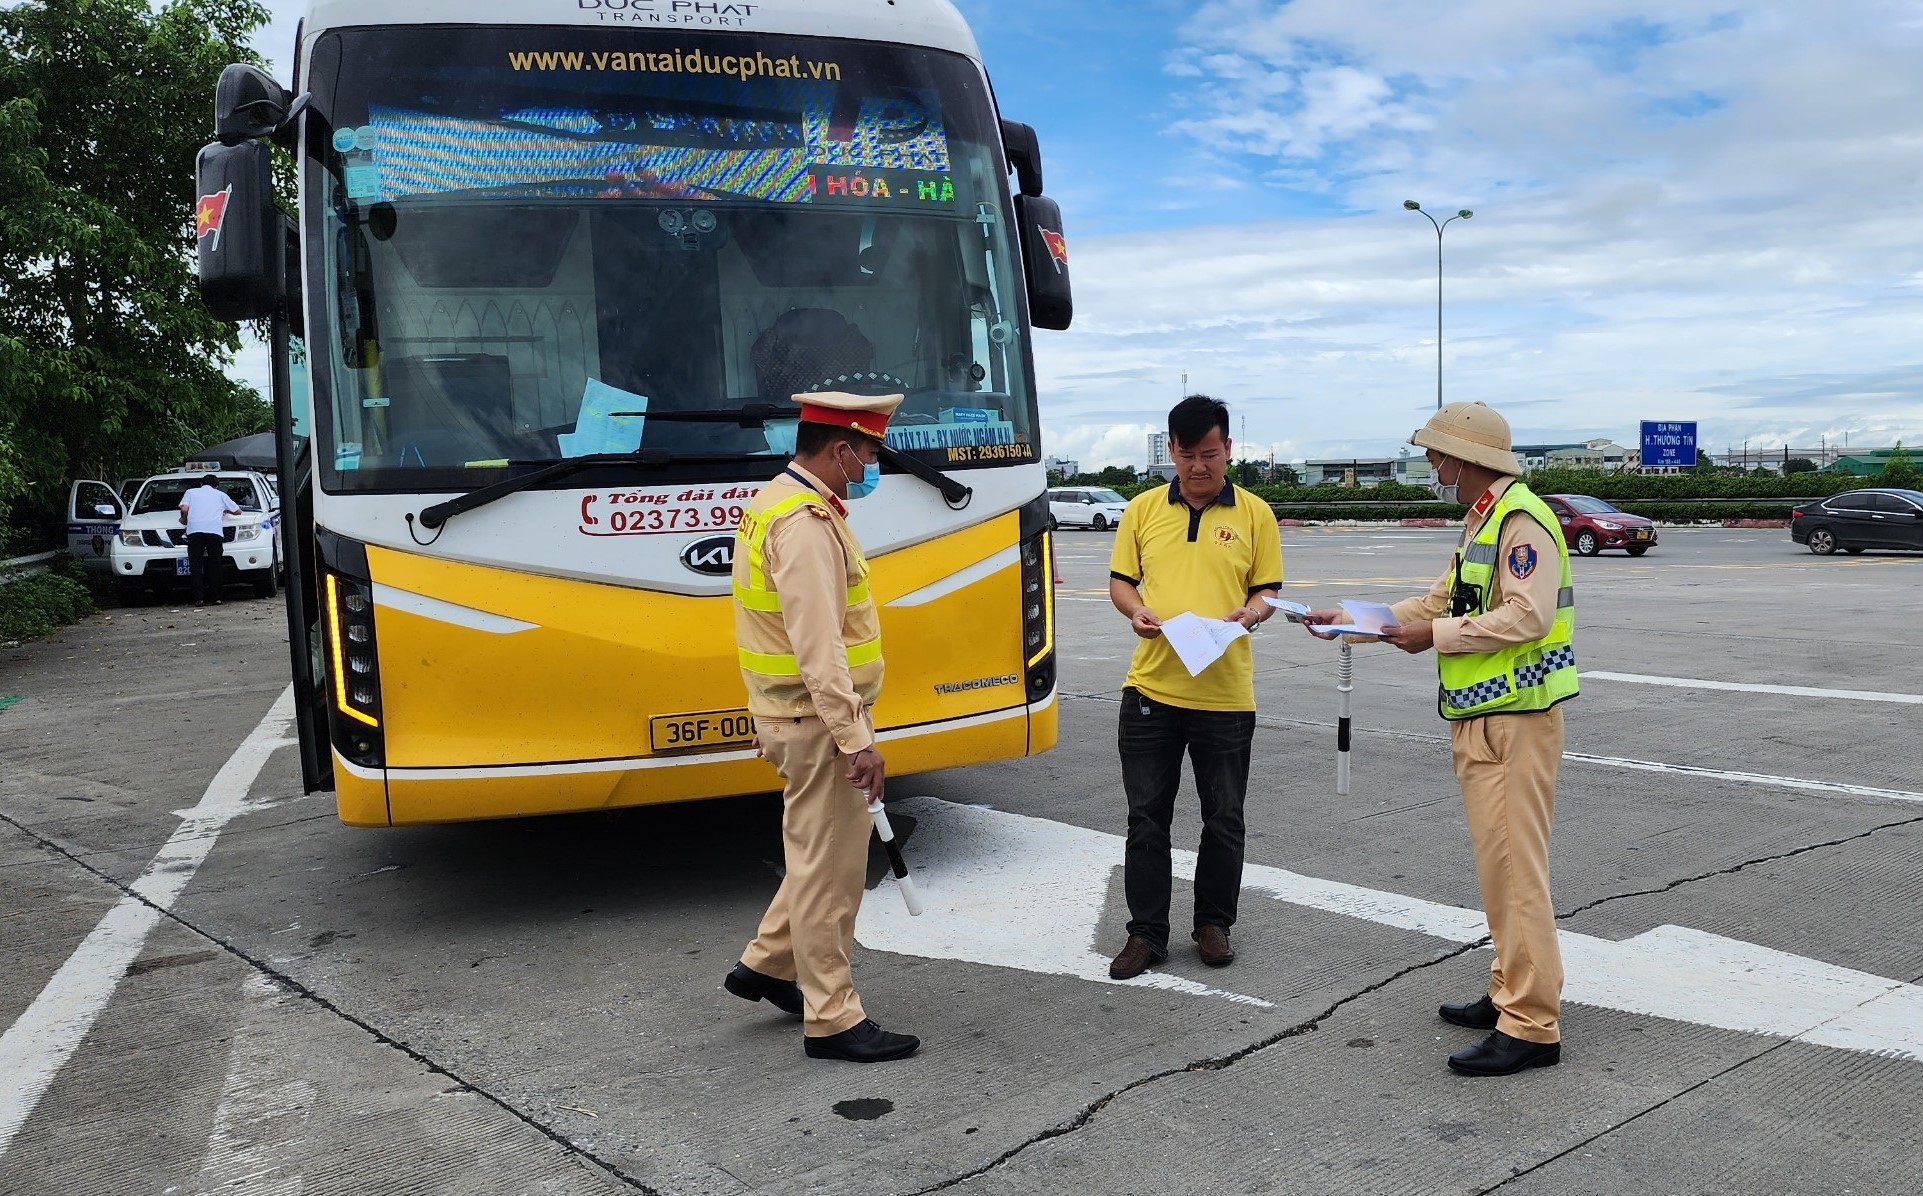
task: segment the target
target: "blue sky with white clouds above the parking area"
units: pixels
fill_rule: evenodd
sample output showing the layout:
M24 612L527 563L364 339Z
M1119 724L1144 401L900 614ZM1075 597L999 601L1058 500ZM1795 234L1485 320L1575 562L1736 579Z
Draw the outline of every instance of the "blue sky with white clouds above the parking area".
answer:
M1406 198L1475 212L1442 388L1519 442L1923 442L1923 0L958 6L1067 227L1052 456L1144 463L1185 373L1250 456L1392 454L1436 392Z

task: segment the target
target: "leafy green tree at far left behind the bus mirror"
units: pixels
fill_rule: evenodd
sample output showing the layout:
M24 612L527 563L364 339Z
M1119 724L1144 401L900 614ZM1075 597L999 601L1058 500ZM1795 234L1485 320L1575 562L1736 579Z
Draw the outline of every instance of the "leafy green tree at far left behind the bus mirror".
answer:
M254 0L0 10L0 504L56 519L73 477L265 431L240 348L194 290L194 154L213 83L258 62ZM10 494L12 488L12 494Z

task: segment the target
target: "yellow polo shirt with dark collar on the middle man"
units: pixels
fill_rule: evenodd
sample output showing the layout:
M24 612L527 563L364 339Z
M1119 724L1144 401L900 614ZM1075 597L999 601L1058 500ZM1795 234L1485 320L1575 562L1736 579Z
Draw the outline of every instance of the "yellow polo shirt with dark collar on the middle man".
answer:
M1169 483L1129 502L1108 569L1140 590L1158 619L1183 611L1221 619L1256 590L1283 585L1283 535L1269 504L1235 483L1202 510L1183 500L1181 483ZM1138 640L1127 685L1188 710L1256 710L1256 656L1240 638L1190 677L1167 640Z

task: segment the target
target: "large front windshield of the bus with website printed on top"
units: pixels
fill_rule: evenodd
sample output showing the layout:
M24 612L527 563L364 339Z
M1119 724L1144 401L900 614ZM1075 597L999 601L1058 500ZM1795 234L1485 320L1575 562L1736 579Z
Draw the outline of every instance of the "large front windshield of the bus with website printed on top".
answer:
M321 37L310 88L323 488L640 448L710 458L658 481L767 477L810 390L904 392L888 440L942 469L1036 460L1008 175L965 58L379 29Z

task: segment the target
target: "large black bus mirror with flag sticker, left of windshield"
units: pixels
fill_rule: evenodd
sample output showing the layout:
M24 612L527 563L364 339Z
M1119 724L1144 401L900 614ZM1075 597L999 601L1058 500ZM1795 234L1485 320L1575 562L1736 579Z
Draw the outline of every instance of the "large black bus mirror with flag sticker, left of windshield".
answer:
M194 181L200 298L208 311L233 321L273 315L287 273L273 150L263 140L210 142L194 162Z

